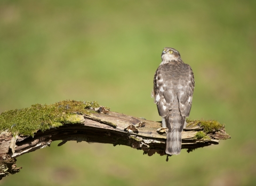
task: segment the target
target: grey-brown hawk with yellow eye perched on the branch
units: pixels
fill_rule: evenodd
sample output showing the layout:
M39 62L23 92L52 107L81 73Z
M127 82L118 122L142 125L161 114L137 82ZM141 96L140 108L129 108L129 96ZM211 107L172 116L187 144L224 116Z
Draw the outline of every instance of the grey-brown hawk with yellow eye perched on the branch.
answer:
M162 62L154 75L154 88L151 97L162 117L162 128L166 131L167 155L179 155L181 151L181 132L186 128L195 87L194 73L184 63L178 50L163 49Z

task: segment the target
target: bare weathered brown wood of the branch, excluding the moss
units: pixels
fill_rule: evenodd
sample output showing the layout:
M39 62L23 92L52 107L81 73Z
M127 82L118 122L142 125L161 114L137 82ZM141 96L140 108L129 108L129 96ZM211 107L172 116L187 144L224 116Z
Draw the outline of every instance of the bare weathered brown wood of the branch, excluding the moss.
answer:
M15 157L50 146L52 141L57 140L61 140L58 146L70 140L87 141L125 145L143 150L148 156L155 153L165 155L166 134L157 132L161 122L116 112L105 113L74 114L69 118L70 123L44 132L37 131L34 137L13 136L11 132L3 131L0 134L0 179L20 171L22 167L17 168ZM182 149L189 152L199 147L218 145L219 139L230 138L221 129L208 133L208 138L197 139L198 131L203 131L200 125L190 125L182 132Z

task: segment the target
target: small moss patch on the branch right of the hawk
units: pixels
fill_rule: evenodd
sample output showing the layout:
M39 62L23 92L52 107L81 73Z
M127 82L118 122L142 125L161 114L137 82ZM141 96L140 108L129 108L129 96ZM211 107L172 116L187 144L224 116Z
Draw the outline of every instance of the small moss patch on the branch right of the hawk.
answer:
M219 131L220 129L224 128L224 125L219 123L218 121L215 120L191 120L191 119L186 119L186 122L188 123L187 126L190 125L199 125L203 128L204 132L207 133L212 133L215 131Z

